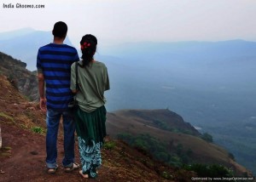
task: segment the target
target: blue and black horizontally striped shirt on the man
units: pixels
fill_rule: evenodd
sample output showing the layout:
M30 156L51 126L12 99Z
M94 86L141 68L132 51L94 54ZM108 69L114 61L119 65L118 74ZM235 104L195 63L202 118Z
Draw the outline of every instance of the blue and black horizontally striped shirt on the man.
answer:
M70 90L70 72L73 62L79 60L77 50L67 44L49 43L38 49L37 68L44 74L47 108L67 110L73 100Z

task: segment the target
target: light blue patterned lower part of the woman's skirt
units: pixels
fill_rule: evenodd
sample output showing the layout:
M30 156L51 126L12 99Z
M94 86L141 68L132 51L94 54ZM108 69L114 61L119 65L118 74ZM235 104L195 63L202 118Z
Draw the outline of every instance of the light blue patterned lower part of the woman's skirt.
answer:
M90 178L96 178L96 169L102 165L102 142L95 143L94 141L91 141L93 145L88 145L84 139L81 139L81 137L78 139L82 171L84 174L88 174Z

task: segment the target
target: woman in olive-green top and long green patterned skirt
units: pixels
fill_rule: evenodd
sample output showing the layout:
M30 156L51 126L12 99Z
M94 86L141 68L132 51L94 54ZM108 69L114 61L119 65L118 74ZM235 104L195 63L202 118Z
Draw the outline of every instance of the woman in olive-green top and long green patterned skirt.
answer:
M79 109L75 111L79 153L84 178L96 178L96 169L102 164L101 147L106 136L106 109L104 91L109 89L106 65L94 60L97 39L87 34L80 42L82 60L78 62L78 84L76 88L76 63L71 66L71 86L76 93Z

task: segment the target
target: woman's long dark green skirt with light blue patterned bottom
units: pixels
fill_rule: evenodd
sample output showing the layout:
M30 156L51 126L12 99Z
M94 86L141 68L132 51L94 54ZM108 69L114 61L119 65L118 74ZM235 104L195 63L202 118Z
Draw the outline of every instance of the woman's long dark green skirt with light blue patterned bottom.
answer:
M75 113L82 170L90 178L96 178L96 168L102 165L101 147L106 136L106 114L104 105L90 113L81 109Z

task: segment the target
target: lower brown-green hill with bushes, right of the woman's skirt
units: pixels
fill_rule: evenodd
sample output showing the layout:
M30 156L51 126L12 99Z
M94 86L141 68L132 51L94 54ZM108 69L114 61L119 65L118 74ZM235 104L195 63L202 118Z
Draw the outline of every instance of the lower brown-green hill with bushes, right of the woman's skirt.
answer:
M169 110L111 112L108 113L107 127L111 137L125 140L178 168L195 163L221 164L236 175L250 174L234 161L229 151L206 141L203 134Z

